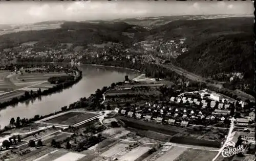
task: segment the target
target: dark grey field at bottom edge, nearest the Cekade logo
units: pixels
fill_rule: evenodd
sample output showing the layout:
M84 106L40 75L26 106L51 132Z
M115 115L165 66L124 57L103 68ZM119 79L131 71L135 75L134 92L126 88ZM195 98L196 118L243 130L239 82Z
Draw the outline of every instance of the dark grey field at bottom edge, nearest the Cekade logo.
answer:
M180 156L177 157L174 161L211 161L217 155L217 153L218 151L206 151L188 148L186 151L180 154Z

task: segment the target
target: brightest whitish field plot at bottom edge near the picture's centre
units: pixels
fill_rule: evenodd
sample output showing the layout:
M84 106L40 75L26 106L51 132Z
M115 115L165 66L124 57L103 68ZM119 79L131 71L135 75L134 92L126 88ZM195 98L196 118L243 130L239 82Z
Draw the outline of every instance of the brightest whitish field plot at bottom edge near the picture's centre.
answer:
M148 152L150 150L150 147L144 147L144 146L139 146L130 152L127 152L123 156L121 156L119 159L120 160L125 160L125 161L135 161L137 158Z

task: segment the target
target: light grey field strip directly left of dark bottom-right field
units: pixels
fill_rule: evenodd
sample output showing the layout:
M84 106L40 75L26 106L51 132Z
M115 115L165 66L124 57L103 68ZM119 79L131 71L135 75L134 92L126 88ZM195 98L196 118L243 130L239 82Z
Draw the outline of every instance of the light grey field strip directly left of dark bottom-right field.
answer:
M156 161L173 161L175 160L180 154L182 154L187 148L183 147L172 147L170 150L168 150L166 153L164 153L162 156L156 159ZM186 159L185 159L186 160ZM187 161L187 160L186 160ZM200 160L203 161L203 160Z

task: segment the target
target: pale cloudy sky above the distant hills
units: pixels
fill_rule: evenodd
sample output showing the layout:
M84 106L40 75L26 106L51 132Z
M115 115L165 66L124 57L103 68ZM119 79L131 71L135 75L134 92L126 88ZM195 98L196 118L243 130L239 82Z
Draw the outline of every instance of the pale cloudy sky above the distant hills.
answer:
M0 24L148 16L252 14L251 1L0 1Z

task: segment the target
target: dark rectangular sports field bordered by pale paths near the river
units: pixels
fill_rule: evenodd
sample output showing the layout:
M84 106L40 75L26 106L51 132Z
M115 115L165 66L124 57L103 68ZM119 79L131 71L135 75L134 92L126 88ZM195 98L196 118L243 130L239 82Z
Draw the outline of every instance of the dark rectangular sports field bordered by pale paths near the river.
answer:
M88 120L97 114L93 113L86 113L86 112L69 112L64 115L55 117L50 120L46 120L46 123L54 123L54 124L61 124L61 125L73 125L83 120Z

